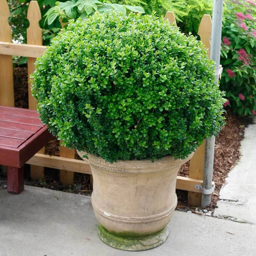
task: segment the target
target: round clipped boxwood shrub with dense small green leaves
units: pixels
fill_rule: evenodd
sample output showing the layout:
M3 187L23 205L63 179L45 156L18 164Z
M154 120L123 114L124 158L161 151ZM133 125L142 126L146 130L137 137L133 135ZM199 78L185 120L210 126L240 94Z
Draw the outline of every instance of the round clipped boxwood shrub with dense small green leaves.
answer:
M69 148L117 159L185 158L224 124L201 42L150 15L71 21L36 61L32 91Z

